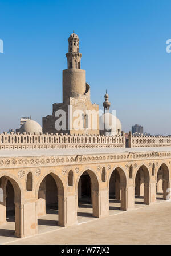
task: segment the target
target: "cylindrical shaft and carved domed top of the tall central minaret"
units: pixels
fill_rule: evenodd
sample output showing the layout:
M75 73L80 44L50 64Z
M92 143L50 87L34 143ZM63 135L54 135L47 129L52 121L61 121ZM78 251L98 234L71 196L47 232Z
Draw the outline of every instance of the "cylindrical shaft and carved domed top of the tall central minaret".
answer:
M70 104L70 98L86 93L86 70L81 69L82 53L79 53L79 37L72 33L68 38L66 53L68 69L63 70L63 103Z

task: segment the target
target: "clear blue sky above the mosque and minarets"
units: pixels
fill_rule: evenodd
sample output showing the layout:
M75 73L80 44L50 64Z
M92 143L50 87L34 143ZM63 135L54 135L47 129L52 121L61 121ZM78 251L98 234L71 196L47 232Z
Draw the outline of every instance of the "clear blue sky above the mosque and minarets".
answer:
M171 134L170 11L170 0L0 0L0 132L18 128L22 116L42 125L62 102L74 30L92 103L103 109L107 89L124 131L140 124Z

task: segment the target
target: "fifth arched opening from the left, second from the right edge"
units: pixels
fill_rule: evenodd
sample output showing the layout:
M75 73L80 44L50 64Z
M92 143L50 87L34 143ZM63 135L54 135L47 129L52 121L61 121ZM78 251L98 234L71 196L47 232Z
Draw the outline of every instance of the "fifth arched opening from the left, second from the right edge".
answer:
M149 191L149 171L146 166L141 166L136 173L135 177L135 206L140 204L150 203L150 191Z

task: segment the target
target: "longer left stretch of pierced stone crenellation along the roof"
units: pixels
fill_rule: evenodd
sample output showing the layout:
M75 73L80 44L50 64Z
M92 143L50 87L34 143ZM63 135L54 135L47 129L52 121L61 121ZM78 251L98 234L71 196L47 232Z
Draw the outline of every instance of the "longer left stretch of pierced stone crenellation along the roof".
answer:
M58 149L58 148L124 148L121 135L68 135L13 133L0 134L0 149Z

